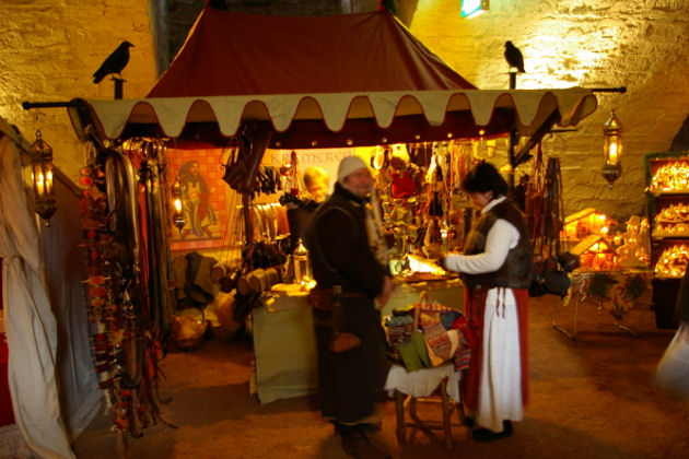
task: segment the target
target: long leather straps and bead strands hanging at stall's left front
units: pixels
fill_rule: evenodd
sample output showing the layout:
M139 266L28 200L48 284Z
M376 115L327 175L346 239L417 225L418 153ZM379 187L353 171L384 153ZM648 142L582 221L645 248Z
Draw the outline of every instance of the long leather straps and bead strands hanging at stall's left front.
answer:
M162 212L167 200L162 200L160 189L153 190L152 181L145 184L152 179L148 174L162 173L164 161L152 162L151 157L161 158L164 149L143 142L126 146L125 154L121 149L91 139L90 165L81 169L80 184L84 187L81 210L86 240L89 320L94 323L92 345L98 385L107 408L113 409L113 429L139 437L151 421L171 425L161 419L157 408L155 370L168 318L152 310L149 303L153 294L156 306L168 307L161 294L162 285L168 282L161 278L167 275L161 259L171 257L161 247L166 247L170 225L161 225L166 222L161 219L166 219ZM140 178L151 192L139 200L133 164L143 156L148 157ZM155 199L160 201L157 204L153 202ZM153 213L147 213L145 232L141 231L139 202L157 215L152 219ZM142 234L151 232L159 234L141 239ZM140 258L142 247L149 252L159 250L157 258Z

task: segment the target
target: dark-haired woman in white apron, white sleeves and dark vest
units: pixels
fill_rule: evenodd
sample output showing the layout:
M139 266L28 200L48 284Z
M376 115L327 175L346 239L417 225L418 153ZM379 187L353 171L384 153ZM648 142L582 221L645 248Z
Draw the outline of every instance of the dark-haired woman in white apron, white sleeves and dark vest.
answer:
M441 263L467 285L465 315L476 346L462 395L475 424L472 438L491 442L512 435L512 421L523 419L527 401L533 248L526 220L493 165L478 164L462 189L479 213L463 255L448 254Z

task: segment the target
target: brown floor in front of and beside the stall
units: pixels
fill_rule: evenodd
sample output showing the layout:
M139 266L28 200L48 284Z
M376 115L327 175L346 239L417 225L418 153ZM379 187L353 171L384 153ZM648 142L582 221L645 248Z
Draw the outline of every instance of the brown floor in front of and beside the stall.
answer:
M624 323L583 303L579 333L570 340L551 322L553 297L532 302L530 397L525 420L511 438L477 444L456 427L452 450L418 433L404 447L395 436L395 404L382 403L383 429L373 435L395 458L681 458L689 457L689 403L661 393L652 376L673 338L658 330L647 307ZM572 305L558 323L572 330ZM100 414L74 442L79 458L346 458L313 397L260 404L249 395L253 352L219 332L192 352L172 351L162 362L163 423L141 438L110 432ZM437 410L436 408L434 410ZM422 411L437 415L437 411Z

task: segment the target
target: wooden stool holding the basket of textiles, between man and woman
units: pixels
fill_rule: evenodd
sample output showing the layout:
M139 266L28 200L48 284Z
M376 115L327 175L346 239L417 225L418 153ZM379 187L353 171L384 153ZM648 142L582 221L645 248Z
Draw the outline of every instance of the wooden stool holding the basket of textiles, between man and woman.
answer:
M395 390L395 408L397 417L397 443L404 445L407 443L407 427L411 427L411 435L419 429L431 438L437 438L432 431L443 431L445 447L452 449L452 426L464 425L464 409L462 402L456 402L447 395L447 379L443 379L436 389L440 395L429 397L413 397ZM421 403L440 403L442 407L442 421L421 420L417 414L417 402ZM405 408L409 407L409 417L405 419ZM457 411L458 423L451 421L453 412Z

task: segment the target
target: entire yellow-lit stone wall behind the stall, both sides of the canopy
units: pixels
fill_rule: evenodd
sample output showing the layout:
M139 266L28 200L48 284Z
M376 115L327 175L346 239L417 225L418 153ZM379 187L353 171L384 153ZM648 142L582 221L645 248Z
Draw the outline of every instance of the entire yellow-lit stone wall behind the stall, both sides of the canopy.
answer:
M178 46L174 39L179 44L186 36L188 25L178 23L173 31L175 21L186 17L190 25L202 3L0 0L0 116L30 141L40 128L58 166L75 179L84 153L67 111L27 111L21 103L113 98L113 82L106 79L95 85L91 75L124 39L136 45L122 74L125 97L144 96L165 67L165 54L174 55ZM308 15L371 11L378 1L227 3L235 11ZM561 157L567 213L595 207L626 219L643 211L643 156L668 150L687 118L689 0L492 0L490 11L472 20L460 19L458 0L396 0L395 4L414 35L480 89L509 86L506 39L525 57L526 73L518 75L518 89L627 86L627 94L599 94L599 109L575 132L546 137L544 151ZM168 51L154 51L159 30L176 37ZM624 127L626 141L623 173L612 188L599 173L602 125L611 110ZM497 162L504 162L502 145Z

